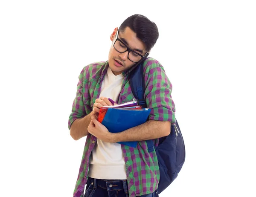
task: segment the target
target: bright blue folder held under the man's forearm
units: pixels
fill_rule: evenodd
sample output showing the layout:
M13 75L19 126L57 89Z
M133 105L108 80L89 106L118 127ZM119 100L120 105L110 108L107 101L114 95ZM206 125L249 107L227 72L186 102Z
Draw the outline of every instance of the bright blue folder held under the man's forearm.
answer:
M125 110L122 108L109 108L102 120L102 125L107 127L109 132L118 133L127 130L131 127L146 122L151 109L142 108L140 110ZM137 146L136 142L117 142L119 144L128 145L131 147Z

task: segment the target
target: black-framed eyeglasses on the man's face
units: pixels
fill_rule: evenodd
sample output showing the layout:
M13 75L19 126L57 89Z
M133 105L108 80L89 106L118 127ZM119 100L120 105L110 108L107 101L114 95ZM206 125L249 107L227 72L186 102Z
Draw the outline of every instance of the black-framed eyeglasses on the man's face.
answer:
M116 41L114 43L114 48L116 49L116 51L118 51L119 53L124 53L126 51L128 51L128 59L131 60L134 63L139 62L142 58L145 58L145 56L148 54L148 52L143 56L140 55L140 53L134 51L133 49L130 49L123 41L121 41L118 38L118 32L116 32L117 37L116 37Z

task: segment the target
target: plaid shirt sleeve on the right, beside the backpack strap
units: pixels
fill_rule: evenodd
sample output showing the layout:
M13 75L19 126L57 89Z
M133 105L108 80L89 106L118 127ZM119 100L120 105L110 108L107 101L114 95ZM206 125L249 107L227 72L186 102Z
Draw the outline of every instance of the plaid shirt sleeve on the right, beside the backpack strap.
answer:
M175 124L175 104L172 100L172 84L155 59L145 65L145 101L151 109L149 120L169 121Z

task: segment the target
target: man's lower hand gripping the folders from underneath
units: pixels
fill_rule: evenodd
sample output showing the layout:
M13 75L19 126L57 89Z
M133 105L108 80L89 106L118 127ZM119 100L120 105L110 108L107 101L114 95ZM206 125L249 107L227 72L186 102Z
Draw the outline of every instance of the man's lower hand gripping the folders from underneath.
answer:
M91 113L91 119L92 120L87 128L88 132L104 142L113 143L113 135L115 133L110 133L108 129L96 119L94 113Z

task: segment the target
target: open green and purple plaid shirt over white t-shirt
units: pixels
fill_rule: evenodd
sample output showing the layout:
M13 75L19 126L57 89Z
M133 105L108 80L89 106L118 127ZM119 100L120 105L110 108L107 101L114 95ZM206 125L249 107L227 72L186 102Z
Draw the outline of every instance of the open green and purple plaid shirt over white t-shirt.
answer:
M144 61L145 101L151 109L149 120L169 121L175 124L175 105L172 100L172 84L163 66L153 58ZM90 64L81 71L77 84L76 98L73 102L68 127L73 121L83 118L92 111L95 100L99 98L102 80L108 69L108 61ZM125 75L125 72L123 72ZM125 76L117 103L121 104L135 99L129 84L129 75ZM152 132L157 132L153 131ZM74 197L83 197L87 183L89 159L96 137L90 133L84 146L84 152L77 178ZM158 140L155 140L158 145ZM121 145L125 159L129 196L135 197L154 192L159 183L159 166L156 152L148 152L147 143L139 141L137 148Z

